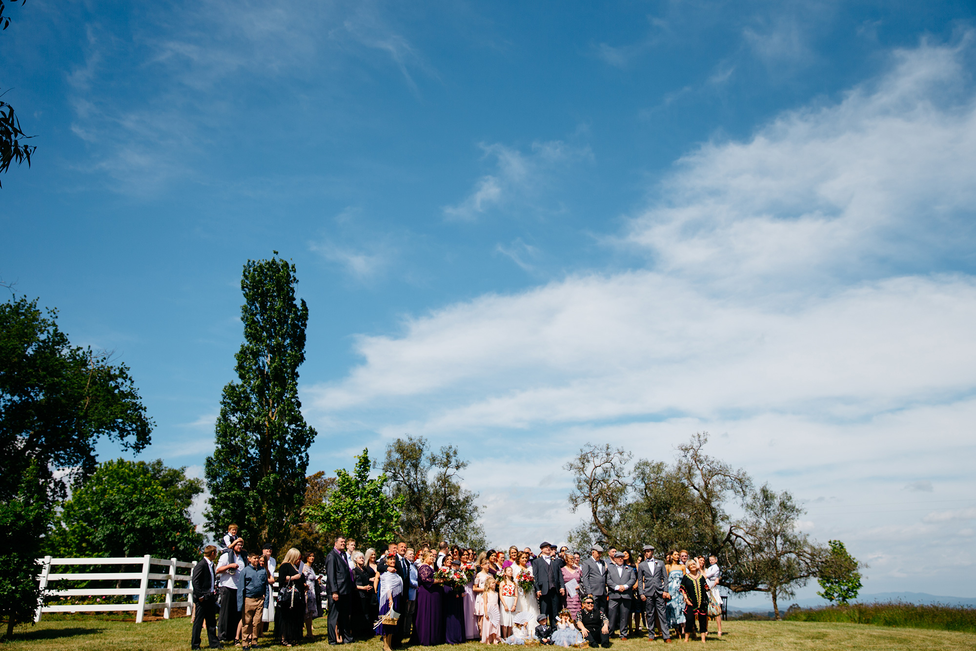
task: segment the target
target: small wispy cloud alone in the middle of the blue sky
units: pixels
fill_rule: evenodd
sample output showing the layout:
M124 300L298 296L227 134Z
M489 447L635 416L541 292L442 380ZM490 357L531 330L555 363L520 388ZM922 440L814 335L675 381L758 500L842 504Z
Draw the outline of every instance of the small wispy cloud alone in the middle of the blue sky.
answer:
M527 153L501 143L479 145L483 158L495 160L495 172L477 179L468 197L443 208L447 219L474 221L490 209L515 201L531 201L541 187L560 169L589 159L588 146L574 146L562 140L533 142Z

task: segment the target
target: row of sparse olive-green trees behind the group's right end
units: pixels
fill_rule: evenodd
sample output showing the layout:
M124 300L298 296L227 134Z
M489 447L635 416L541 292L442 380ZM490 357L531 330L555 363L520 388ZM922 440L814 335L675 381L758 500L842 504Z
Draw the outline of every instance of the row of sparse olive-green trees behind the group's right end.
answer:
M705 451L707 433L677 446L672 463L638 459L622 447L587 444L572 473L573 511L589 518L570 532L578 549L601 541L619 549L653 543L659 550L714 555L720 585L732 593L767 593L779 601L817 578L825 598L846 602L860 589L863 565L840 541L822 545L796 528L804 509L787 491L754 485L746 471ZM732 512L739 514L733 516Z

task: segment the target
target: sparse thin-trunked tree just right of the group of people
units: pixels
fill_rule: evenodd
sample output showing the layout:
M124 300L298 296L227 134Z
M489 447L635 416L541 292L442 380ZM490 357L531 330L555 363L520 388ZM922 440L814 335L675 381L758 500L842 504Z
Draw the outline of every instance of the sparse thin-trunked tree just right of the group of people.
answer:
M777 493L768 484L753 491L740 525L745 551L734 569L738 592L768 593L773 613L780 617L780 598L792 598L796 588L817 575L824 550L795 528L803 509L788 491Z

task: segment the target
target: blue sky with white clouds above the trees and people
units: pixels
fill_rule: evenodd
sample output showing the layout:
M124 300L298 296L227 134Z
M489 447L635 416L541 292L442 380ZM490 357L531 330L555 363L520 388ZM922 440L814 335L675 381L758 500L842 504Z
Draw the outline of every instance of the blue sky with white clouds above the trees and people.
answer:
M10 11L38 149L2 179L0 277L130 365L145 456L200 472L241 266L277 249L311 471L453 442L492 540L535 545L579 519L581 444L706 430L870 592L972 546L971 3Z

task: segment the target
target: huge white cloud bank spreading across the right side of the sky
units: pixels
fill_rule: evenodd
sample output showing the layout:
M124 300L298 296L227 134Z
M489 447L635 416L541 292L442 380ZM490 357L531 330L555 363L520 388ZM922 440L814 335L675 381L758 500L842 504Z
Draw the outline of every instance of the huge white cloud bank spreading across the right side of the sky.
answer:
M827 510L810 517L818 537L850 540L874 578L923 580L916 550L961 536L947 527L969 507L935 511L939 495L920 482L909 485L922 504L892 507L897 517L859 504L907 495L906 478L976 489L966 47L896 52L887 74L833 104L686 156L608 240L645 253L644 269L483 295L357 338L363 363L306 389L310 413L384 437L514 436L516 465L559 441L536 478L588 440L666 460L709 430L714 454ZM531 168L497 151L496 204ZM938 445L920 442L933 432ZM497 486L497 465L472 466L468 482ZM549 530L568 528L578 516L558 507L565 488L548 490L496 489L492 508L510 513L542 491ZM508 539L539 530L497 526Z

